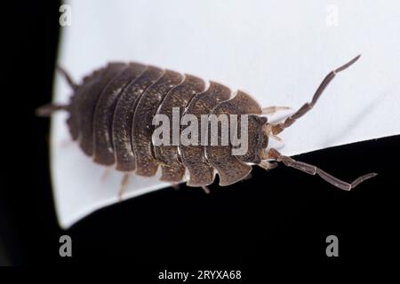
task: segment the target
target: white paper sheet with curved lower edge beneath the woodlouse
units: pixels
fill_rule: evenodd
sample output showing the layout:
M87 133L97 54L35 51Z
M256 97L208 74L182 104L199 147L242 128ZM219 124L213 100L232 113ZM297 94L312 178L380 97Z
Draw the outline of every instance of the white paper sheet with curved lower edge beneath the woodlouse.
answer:
M311 99L328 72L357 54L316 107L285 130L284 154L400 132L398 1L70 1L59 64L79 82L111 60L139 61L247 91L262 106ZM337 24L337 25L336 25ZM57 76L55 101L67 102ZM122 174L94 164L71 142L66 114L52 119L52 180L67 228L117 201ZM69 142L68 142L69 141ZM132 176L124 198L165 187Z

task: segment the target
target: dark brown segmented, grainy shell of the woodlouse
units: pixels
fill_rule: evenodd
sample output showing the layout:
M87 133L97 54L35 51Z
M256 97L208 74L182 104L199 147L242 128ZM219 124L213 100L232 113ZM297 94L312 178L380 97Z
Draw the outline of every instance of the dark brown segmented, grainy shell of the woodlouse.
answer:
M250 173L249 162L260 162L260 130L267 122L257 115L261 107L250 95L236 91L231 96L228 87L215 82L206 87L193 75L139 63L109 63L77 86L67 123L72 138L94 162L116 164L116 170L145 177L154 176L161 166L161 179L171 183L184 180L188 172L191 186L212 184L216 170L220 185L230 185ZM250 114L247 154L232 155L232 146L154 146L153 117L165 114L172 122L172 107L179 107L180 116L199 119L202 114Z

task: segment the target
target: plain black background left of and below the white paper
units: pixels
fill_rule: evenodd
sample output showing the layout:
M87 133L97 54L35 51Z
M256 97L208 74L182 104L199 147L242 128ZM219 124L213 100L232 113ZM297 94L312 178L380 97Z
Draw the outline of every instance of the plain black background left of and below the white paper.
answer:
M185 186L148 193L62 231L50 184L49 120L34 115L52 99L59 7L57 1L14 6L5 26L10 51L2 93L0 264L244 269L271 262L353 265L396 255L398 136L297 157L344 180L379 173L350 193L284 166L254 168L252 179L228 188L212 185L208 195ZM59 256L62 234L72 237L70 258ZM331 234L339 238L336 258L325 255Z

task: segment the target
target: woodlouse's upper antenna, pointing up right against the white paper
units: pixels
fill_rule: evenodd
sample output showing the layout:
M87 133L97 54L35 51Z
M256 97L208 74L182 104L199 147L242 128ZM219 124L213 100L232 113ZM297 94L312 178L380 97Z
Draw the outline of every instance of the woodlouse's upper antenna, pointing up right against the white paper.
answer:
M360 56L361 55L357 55L354 59L351 59L345 65L343 65L339 68L336 68L331 73L326 75L323 82L320 83L320 85L318 86L318 89L316 89L316 93L314 94L313 99L311 99L311 102L308 102L308 103L304 104L303 106L301 106L297 112L295 112L291 116L287 117L284 120L284 122L271 125L271 133L278 134L278 133L282 132L282 130L291 126L293 124L293 122L295 122L301 116L303 116L304 114L307 114L308 111L311 110L311 108L313 108L313 106L316 104L316 101L319 99L319 97L321 97L322 93L324 92L324 90L326 89L328 84L332 81L332 79L336 76L336 74L338 74L339 72L341 72L341 71L347 69L348 67L350 67L351 65L353 65L356 62L356 60L358 60L360 58Z

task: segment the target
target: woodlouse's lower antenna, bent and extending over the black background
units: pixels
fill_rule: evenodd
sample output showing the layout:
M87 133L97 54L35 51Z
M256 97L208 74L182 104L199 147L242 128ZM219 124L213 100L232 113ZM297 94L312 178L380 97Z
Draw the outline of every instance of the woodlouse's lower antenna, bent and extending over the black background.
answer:
M297 170L304 171L304 172L308 173L309 175L313 175L313 176L318 175L318 176L322 177L325 181L330 183L331 185L334 185L334 186L339 187L340 189L346 190L346 191L349 191L352 188L356 187L356 185L361 184L362 182L364 182L364 180L367 180L368 178L375 177L376 175L378 175L377 173L372 172L372 173L366 174L364 176L357 177L356 180L354 180L351 183L347 183L345 181L340 180L337 177L333 177L332 175L328 174L326 171L321 170L314 165L310 165L305 162L299 162L299 161L292 159L291 157L284 156L284 155L280 154L274 148L271 148L268 151L268 158L275 159L278 162L283 162L284 165L286 165L288 167L292 167Z

